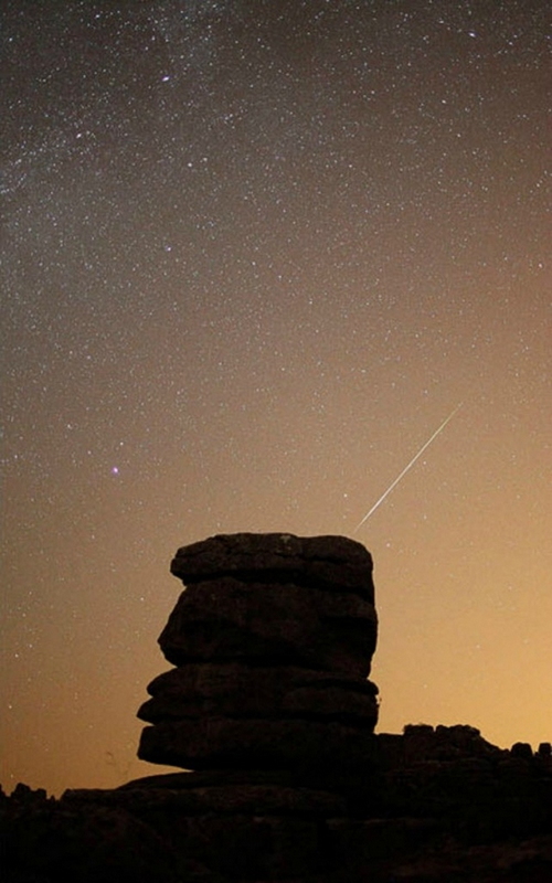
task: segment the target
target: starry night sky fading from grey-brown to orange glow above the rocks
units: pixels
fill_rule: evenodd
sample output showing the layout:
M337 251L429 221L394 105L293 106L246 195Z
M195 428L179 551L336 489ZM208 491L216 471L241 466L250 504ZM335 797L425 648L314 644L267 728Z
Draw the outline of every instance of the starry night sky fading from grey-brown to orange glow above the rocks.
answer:
M2 7L4 789L158 772L235 531L372 552L380 732L552 740L548 0Z

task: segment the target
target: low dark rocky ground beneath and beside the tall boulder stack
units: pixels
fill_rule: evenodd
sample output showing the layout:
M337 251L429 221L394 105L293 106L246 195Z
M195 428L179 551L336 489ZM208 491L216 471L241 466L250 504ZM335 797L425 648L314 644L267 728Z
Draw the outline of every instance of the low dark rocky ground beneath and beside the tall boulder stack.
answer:
M370 778L149 776L0 799L6 883L550 883L552 763L474 727L372 736ZM365 790L367 799L360 799ZM368 799L369 798L369 799Z

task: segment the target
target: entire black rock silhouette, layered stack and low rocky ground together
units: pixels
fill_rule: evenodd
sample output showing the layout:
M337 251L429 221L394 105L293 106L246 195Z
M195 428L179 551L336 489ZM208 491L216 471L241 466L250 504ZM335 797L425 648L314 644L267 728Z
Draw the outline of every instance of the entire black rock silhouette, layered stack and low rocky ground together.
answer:
M550 883L552 751L374 734L372 560L338 536L178 551L139 756L187 770L0 789L7 883Z

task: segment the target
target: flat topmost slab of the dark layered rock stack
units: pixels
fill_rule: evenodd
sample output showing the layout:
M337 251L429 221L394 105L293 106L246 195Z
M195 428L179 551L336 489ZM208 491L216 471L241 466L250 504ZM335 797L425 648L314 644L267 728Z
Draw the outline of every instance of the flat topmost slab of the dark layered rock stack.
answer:
M217 534L179 549L171 573L184 584L231 576L338 589L374 603L372 556L346 536L290 533Z

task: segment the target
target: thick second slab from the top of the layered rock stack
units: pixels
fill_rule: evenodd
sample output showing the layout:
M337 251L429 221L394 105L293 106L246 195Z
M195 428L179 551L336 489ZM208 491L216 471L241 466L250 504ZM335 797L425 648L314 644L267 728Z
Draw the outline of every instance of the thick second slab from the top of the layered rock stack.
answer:
M374 606L358 595L227 577L182 592L159 645L174 666L242 659L361 678L376 631Z

